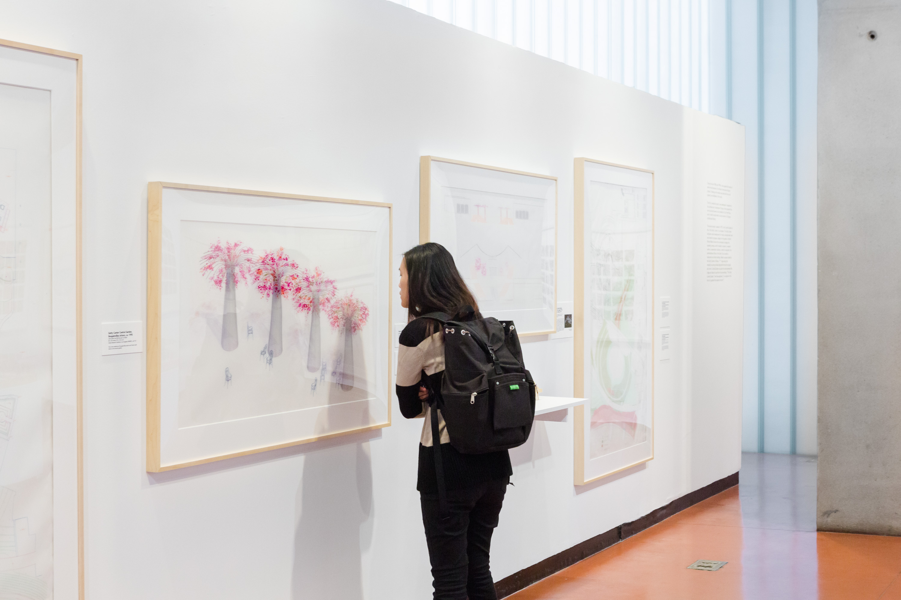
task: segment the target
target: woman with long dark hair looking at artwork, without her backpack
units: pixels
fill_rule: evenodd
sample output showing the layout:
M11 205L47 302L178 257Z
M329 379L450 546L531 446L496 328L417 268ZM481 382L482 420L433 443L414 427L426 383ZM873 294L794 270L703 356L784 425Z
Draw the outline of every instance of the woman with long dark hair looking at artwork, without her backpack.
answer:
M432 563L434 600L496 600L488 553L506 486L513 475L507 451L463 454L451 446L439 411L448 514L441 518L435 475L429 391L441 393L444 334L435 321L418 318L443 312L455 321L481 318L478 304L453 257L435 243L414 246L400 264L401 306L409 323L400 335L397 399L406 418L425 417L419 443L420 493L425 539Z

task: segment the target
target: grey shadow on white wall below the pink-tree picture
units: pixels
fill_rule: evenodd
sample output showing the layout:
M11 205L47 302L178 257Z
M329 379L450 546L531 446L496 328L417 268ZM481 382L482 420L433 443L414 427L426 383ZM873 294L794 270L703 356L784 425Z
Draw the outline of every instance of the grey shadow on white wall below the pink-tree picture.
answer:
M360 423L369 423L369 408ZM318 424L317 424L318 425ZM320 431L328 429L321 424ZM372 542L369 442L337 443L310 452L296 496L293 600L362 600L361 557Z

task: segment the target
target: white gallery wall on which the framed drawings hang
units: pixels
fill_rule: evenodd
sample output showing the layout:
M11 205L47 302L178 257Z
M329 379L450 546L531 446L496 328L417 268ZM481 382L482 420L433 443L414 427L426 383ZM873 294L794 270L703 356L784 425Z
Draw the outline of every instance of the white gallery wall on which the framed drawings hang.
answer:
M511 452L496 579L739 469L741 125L387 0L152 4L0 0L0 38L84 67L86 593L122 598L422 598L422 421L149 474L145 356L100 355L100 324L145 320L147 183L387 201L396 264L418 239L419 157L559 177L558 299L573 300L573 158L655 172L655 458L576 488L572 421ZM733 190L733 275L706 276L711 184ZM395 304L395 321L403 311ZM577 324L578 327L578 324ZM523 344L546 395L572 339Z

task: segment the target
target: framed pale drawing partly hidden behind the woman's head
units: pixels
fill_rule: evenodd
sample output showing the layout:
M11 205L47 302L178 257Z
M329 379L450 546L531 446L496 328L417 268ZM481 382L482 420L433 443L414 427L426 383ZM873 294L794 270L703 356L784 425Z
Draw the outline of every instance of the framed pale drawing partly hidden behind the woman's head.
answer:
M419 241L446 247L486 317L554 333L557 178L422 157Z

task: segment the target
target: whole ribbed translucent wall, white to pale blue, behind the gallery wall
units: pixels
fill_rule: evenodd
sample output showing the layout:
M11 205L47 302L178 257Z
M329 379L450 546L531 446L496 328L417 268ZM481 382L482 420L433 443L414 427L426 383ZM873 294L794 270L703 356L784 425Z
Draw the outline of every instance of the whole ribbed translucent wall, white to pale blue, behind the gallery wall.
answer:
M816 0L391 1L747 128L742 447L816 454Z

